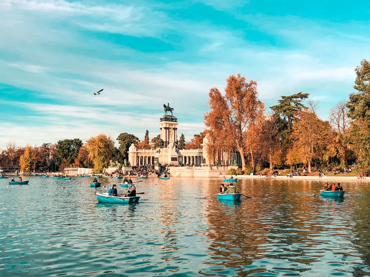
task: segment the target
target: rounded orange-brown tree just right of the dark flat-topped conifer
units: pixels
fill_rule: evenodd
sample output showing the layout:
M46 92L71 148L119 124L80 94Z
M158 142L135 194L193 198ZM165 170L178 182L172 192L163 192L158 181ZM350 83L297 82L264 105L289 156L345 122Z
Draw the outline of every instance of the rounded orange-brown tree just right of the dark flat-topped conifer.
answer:
M312 160L326 154L332 137L332 127L328 121L319 119L314 111L306 109L297 112L292 133L293 150L298 153L301 162L308 162L310 173Z

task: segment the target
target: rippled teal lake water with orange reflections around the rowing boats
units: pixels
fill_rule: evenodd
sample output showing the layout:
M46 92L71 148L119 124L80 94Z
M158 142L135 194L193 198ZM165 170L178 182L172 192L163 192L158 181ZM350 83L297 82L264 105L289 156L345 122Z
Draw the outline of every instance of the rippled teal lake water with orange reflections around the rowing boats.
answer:
M218 179L149 178L139 203L112 205L87 178L29 179L0 180L0 276L370 276L365 182L335 199L310 196L315 181L239 180L253 199L233 203L201 199Z

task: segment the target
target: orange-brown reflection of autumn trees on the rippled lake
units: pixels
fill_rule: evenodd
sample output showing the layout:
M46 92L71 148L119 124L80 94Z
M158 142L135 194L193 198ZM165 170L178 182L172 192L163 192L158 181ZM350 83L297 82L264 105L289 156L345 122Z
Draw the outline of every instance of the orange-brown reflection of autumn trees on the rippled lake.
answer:
M316 266L322 264L329 271L336 270L328 266L329 263L337 262L342 252L352 247L342 241L353 235L353 220L349 214L353 213L354 205L343 199L309 196L321 185L314 182L248 180L238 183L238 188L246 195L254 196L253 199L243 199L239 203L217 199L206 202L208 254L215 261L205 263L209 264L211 271L199 273L214 273L212 267L215 267L222 274L225 267L231 267L239 271L234 274L240 276L274 270L277 270L275 273L290 270L292 273L289 275L299 275L294 272L312 270L313 263L317 262ZM296 195L296 192L307 194ZM366 224L360 228L369 227L369 220L364 222ZM361 245L369 246L368 236ZM369 264L370 250L363 249L363 253L366 253L366 264ZM338 257L332 258L333 254ZM329 257L334 261L327 261ZM286 267L273 267L272 260L272 265L265 268L260 265L262 267L247 269L252 262L258 264L261 259L282 259L285 261L279 263ZM364 274L363 269L355 271Z

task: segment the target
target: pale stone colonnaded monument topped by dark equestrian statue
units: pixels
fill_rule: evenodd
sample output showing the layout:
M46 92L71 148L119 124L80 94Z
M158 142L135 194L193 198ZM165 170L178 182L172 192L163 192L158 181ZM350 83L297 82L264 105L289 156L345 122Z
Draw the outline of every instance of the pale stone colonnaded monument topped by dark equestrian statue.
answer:
M139 166L145 164L155 164L157 161L160 164L172 164L172 165L189 165L189 166L211 166L214 164L209 158L207 153L207 144L210 141L208 135L203 138L201 149L178 149L177 139L177 126L178 121L173 116L172 111L174 110L169 104L164 105L165 114L160 118L159 129L161 143L156 149L137 149L134 144L131 144L128 151L128 160L132 166ZM171 112L171 115L168 114ZM231 161L236 161L236 164L241 164L239 152L226 152L223 153L222 164L230 164ZM203 168L207 170L207 168ZM211 170L211 168L208 168ZM190 170L190 168L188 168ZM229 168L215 168L217 175L222 170L229 170ZM173 170L172 170L173 171ZM182 172L184 176L184 172ZM172 175L179 175L171 172ZM223 172L226 174L226 172ZM181 174L180 174L181 175ZM185 174L187 177L192 177L191 174ZM209 174L206 176L199 177L210 177ZM214 176L216 177L216 176Z

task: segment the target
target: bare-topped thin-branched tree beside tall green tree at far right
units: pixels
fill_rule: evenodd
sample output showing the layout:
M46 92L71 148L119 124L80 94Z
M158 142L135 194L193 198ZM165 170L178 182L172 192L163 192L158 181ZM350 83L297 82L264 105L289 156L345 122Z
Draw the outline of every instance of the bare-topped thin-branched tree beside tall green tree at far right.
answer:
M348 117L348 108L346 101L340 101L329 111L329 121L337 132L337 142L340 144L343 164L346 162L348 128L350 119Z

